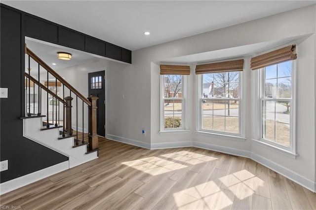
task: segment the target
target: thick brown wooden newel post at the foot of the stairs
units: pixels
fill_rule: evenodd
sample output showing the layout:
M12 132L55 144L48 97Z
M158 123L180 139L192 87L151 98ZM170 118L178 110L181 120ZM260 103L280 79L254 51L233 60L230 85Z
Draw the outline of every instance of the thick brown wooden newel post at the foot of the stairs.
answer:
M96 96L88 97L91 106L89 106L89 149L94 150L99 147L99 138L97 134L97 100Z

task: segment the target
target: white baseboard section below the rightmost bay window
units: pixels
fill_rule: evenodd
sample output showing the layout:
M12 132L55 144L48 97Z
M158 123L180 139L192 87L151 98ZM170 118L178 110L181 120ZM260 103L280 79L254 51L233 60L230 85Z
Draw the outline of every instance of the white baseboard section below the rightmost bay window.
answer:
M268 160L260 155L251 153L251 159L264 165L265 167L277 172L280 175L285 176L286 178L298 183L299 185L302 185L303 187L315 192L315 181L310 180L308 178L305 178L302 175L299 175L287 168L284 168L283 166L280 166L271 160Z

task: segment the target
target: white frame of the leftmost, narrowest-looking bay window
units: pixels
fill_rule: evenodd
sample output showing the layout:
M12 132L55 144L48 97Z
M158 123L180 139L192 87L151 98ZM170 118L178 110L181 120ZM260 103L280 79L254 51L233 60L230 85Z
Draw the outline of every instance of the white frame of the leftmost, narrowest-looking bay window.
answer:
M178 132L183 132L183 131L188 131L187 124L186 124L186 87L187 87L187 76L188 75L183 75L183 74L174 74L174 75L181 75L182 76L182 81L181 81L181 86L182 86L182 97L181 98L165 98L164 97L164 77L165 75L172 75L172 74L162 74L160 75L160 134L163 134L165 132L173 132L173 133L178 133ZM180 128L164 128L164 101L165 100L181 100L182 101L182 116L181 116L181 125L182 127Z

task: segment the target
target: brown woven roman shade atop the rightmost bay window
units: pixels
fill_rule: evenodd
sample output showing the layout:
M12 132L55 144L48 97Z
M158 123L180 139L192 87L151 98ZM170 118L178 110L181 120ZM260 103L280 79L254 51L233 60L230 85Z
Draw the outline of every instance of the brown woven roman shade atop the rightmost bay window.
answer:
M257 70L263 67L275 65L285 61L296 59L296 46L289 45L272 52L268 52L256 57L251 58L250 68Z

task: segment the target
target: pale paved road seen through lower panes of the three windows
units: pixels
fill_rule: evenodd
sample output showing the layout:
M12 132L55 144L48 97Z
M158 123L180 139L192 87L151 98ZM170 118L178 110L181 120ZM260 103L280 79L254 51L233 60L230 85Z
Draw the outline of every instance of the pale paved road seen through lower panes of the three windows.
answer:
M275 120L275 107L274 103L267 103L267 112L266 112L266 119L267 120ZM284 114L283 112L286 111L286 106L285 105L280 105L276 103L276 121L278 122L283 122L283 123L289 123L290 122L290 115L289 114ZM165 111L165 116L171 117L181 117L181 111ZM204 110L203 111L204 117L211 117L213 114L214 115L220 115L223 116L225 115L225 109L217 109L214 110L214 113L212 110ZM226 116L228 116L228 110L226 110ZM230 116L238 116L238 108L231 108L230 110Z

